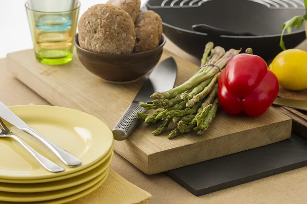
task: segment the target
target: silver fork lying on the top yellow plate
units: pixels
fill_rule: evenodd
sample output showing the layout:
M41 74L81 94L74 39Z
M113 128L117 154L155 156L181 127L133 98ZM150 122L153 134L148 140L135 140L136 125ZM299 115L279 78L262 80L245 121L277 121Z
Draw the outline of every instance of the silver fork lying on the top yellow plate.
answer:
M57 164L51 162L45 156L41 155L37 151L35 151L32 147L30 147L25 141L21 140L19 137L14 135L4 124L4 122L0 119L0 138L12 138L23 145L35 158L36 160L45 167L50 172L61 172L65 169L63 167L58 166Z

